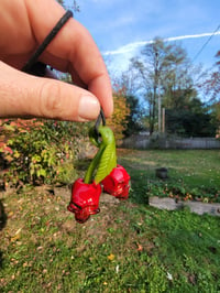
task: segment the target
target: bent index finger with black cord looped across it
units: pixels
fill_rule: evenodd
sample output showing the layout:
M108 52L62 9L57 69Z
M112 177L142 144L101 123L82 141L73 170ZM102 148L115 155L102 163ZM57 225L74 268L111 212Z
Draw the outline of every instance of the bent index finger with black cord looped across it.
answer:
M42 43L65 10L54 0L28 0L32 31L37 44ZM43 18L42 18L43 15ZM106 116L113 110L110 78L101 54L89 32L70 19L42 55L42 61L58 70L68 72L99 99Z

